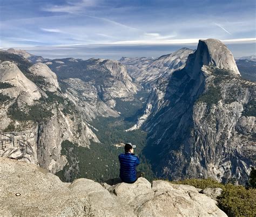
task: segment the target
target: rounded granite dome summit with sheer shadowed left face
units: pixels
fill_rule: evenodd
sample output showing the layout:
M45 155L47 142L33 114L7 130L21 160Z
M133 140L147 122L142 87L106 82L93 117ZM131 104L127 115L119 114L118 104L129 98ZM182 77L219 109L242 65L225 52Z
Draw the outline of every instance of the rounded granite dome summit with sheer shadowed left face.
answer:
M228 69L232 75L240 75L233 54L217 39L199 40L196 52L188 56L186 69L199 71L203 65Z

